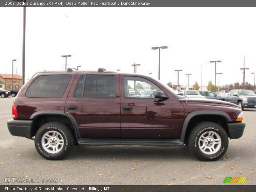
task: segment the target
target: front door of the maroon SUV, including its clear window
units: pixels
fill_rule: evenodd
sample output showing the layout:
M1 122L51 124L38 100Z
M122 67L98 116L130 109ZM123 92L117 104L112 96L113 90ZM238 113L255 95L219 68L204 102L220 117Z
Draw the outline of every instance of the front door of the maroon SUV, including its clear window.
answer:
M184 107L170 93L167 94L168 100L158 102L154 93L163 89L152 81L153 79L149 81L146 78L120 75L121 138L180 137Z

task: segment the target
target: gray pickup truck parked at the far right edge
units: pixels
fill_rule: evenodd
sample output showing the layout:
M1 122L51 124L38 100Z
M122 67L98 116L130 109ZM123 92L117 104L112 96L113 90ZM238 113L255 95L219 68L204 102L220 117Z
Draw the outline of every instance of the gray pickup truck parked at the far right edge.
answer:
M234 89L226 97L221 97L222 100L239 105L242 110L244 108L256 108L256 94L251 90Z

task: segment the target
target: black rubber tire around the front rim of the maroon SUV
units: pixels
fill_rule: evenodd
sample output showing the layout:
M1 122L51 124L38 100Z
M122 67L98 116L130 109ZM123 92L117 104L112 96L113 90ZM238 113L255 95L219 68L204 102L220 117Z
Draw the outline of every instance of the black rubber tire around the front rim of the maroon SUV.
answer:
M213 153L213 154L205 154L201 149L199 148L199 139L200 137L206 132L214 132L217 133L220 136L220 147L219 149ZM207 137L206 137L207 139ZM205 140L206 141L206 140ZM207 140L208 142L208 140ZM202 141L200 142L201 145ZM207 143L208 144L208 143ZM210 143L211 144L211 143ZM214 145L216 146L216 145ZM213 146L213 147L214 147ZM188 147L190 149L190 152L192 155L194 155L197 159L201 161L216 161L220 159L227 151L228 149L228 135L227 132L217 123L213 122L202 122L200 124L197 124L193 130L190 132L189 137L188 137ZM209 149L207 149L206 146L206 153L208 152ZM210 152L210 150L209 150ZM208 153L209 153L208 152Z

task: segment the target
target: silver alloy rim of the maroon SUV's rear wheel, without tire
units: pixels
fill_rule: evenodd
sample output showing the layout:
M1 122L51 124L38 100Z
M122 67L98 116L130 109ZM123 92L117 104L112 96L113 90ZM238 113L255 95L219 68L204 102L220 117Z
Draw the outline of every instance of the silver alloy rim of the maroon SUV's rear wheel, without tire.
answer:
M58 153L64 146L64 139L57 131L48 131L42 137L42 146L48 153Z

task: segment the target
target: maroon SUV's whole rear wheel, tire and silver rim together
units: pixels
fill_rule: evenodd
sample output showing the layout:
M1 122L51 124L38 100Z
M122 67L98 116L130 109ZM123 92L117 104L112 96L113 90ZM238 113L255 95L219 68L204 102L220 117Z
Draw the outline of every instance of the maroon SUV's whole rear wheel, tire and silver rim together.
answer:
M68 127L59 122L42 125L36 132L37 152L48 160L61 160L73 149L74 140Z

